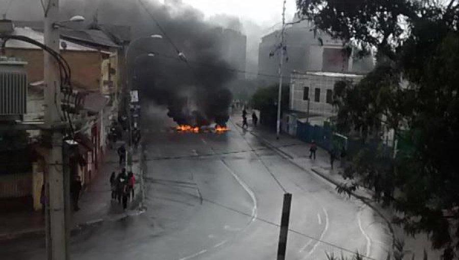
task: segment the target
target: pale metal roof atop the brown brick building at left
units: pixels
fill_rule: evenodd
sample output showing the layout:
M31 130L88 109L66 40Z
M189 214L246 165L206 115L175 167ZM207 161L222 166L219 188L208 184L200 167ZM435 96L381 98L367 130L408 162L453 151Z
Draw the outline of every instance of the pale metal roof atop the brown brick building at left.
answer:
M37 32L37 31L34 31L32 30L31 28L28 28L28 27L25 27L25 28L21 28L21 27L16 27L14 28L14 32L13 32L13 35L22 35L22 36L27 36L31 39L34 39L40 43L44 43L44 36L43 36L43 33L40 33L40 32ZM90 47L86 47L86 46L83 46L83 45L80 45L80 44L76 44L76 43L72 43L72 42L69 42L69 41L65 41L65 40L60 40L61 44L60 45L60 48L62 48L62 42L65 42L67 47L65 48L66 50L81 50L81 51L97 51L97 49L94 49L94 48L90 48ZM19 41L19 40L8 40L7 43L6 43L6 47L7 48L25 48L25 49L40 49L40 47L34 45L34 44L31 44L31 43L28 43L28 42L24 42L24 41Z

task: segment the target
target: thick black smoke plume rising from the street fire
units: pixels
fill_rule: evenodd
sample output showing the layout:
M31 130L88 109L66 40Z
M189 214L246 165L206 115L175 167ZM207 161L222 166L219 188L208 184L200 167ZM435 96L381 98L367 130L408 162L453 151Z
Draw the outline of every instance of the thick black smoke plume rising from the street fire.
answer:
M235 74L221 57L221 31L180 1L141 1L147 10L138 0L99 1L104 8L97 16L100 23L114 23L115 18L115 23L130 24L133 38L163 36L132 41L129 71L141 98L167 107L178 124L225 125L232 95L224 86Z

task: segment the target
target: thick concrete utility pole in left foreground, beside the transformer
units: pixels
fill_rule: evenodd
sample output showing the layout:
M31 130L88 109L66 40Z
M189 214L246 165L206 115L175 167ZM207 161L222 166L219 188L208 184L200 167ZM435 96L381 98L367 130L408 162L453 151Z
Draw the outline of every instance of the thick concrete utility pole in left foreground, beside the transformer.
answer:
M44 44L59 53L59 0L46 1L44 15ZM43 51L45 87L45 123L50 136L50 152L47 159L48 216L46 227L46 251L48 260L68 259L65 214L65 180L62 157L61 82L58 64L53 56Z

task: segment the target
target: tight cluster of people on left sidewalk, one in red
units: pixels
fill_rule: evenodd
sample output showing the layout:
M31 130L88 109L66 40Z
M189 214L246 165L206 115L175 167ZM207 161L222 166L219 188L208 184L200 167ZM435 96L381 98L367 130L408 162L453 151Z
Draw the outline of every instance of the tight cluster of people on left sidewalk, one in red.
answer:
M118 175L116 175L115 172L112 172L112 175L110 175L112 200L118 200L118 203L122 203L123 210L127 208L127 201L134 199L135 182L134 173L130 171L126 174L125 168L122 168Z

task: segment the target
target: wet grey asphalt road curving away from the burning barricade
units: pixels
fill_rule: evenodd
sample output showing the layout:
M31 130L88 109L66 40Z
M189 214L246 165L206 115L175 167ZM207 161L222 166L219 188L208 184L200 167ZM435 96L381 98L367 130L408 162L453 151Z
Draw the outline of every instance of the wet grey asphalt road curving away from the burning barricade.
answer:
M386 258L385 223L361 202L234 124L224 134L171 125L164 113L143 123L146 212L82 231L72 238L72 259L275 259L284 191L270 172L293 194L286 259L350 254L343 250ZM44 259L43 247L36 239L4 243L0 259Z

